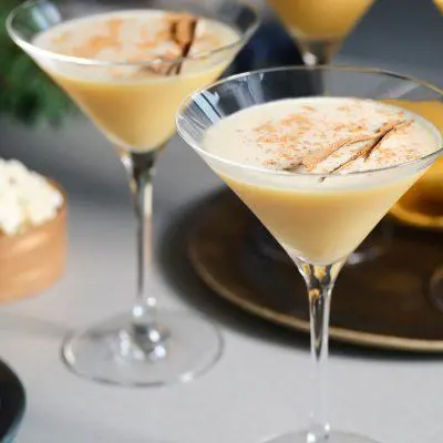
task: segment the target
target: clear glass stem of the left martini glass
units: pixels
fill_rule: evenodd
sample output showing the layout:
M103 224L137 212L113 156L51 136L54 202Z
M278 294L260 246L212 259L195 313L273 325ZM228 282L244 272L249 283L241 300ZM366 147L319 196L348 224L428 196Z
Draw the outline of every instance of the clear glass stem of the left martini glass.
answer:
M136 218L136 299L132 309L135 332L146 332L155 326L156 299L146 295L146 185L152 183L155 164L155 152L127 153L121 152L122 162L128 173ZM151 251L150 251L151 253ZM151 333L150 333L151 334ZM155 334L154 334L155 336Z

